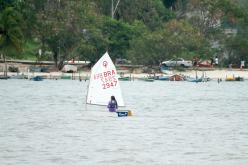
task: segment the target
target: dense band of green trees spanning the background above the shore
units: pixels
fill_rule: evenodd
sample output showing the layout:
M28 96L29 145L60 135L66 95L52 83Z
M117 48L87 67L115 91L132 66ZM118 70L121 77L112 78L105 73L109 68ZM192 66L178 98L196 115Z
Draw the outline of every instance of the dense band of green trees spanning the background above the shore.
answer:
M113 2L113 4L112 4ZM242 0L0 0L0 53L8 58L133 64L173 57L248 61ZM41 50L41 54L39 54Z

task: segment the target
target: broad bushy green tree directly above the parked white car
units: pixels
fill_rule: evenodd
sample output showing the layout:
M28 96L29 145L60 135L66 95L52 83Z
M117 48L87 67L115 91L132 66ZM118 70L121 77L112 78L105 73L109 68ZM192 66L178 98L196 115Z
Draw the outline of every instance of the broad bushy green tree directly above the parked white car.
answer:
M209 48L198 29L186 21L172 20L160 31L134 39L129 51L129 58L138 64L157 65L165 59L184 57L192 59L194 55L207 58L201 54Z

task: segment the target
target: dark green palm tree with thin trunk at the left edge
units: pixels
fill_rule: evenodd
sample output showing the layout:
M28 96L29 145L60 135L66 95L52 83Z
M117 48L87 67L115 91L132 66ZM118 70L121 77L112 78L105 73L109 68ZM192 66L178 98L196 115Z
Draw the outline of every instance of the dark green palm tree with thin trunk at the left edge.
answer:
M23 43L23 20L21 14L12 7L0 13L0 54L5 63L4 77L7 77L6 55L8 50L21 51Z

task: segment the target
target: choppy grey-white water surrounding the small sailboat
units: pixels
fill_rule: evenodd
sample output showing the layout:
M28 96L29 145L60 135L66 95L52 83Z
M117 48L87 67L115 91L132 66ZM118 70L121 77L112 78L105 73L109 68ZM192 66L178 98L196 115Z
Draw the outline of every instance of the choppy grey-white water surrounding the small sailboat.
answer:
M248 82L121 82L134 116L86 82L0 81L0 164L247 165Z

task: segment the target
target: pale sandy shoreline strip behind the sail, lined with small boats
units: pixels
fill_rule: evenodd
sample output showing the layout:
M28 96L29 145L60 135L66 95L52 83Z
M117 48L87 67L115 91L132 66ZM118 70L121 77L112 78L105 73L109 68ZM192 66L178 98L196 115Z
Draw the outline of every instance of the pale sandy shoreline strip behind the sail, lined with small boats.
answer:
M210 79L225 79L226 77L243 77L244 79L248 79L248 70L244 69L244 70L240 70L240 69L214 69L214 70L206 70L206 71L195 71L195 70L186 70L186 71L176 71L176 70L172 70L169 71L170 74L180 74L180 75L184 75L184 76L189 76L189 77L195 77L196 73L198 76L201 76L203 73L209 77ZM3 72L0 72L0 75L4 75ZM45 72L20 72L20 73L16 73L16 72L8 72L8 76L12 77L12 76L16 76L16 75L24 75L24 76L30 76L30 77L34 77L34 76L43 76L46 77L48 79L58 79L61 78L62 76L66 77L66 76L71 76L74 79L85 79L87 77L90 76L90 72L89 71L80 71L77 73L64 73L64 72L50 72L50 73L45 73ZM118 75L120 75L118 73ZM136 78L144 78L147 77L149 75L154 75L154 74L148 74L148 73L125 73L124 76L131 76L132 78L136 79ZM155 73L156 76L162 76L162 75L166 75L164 73Z

